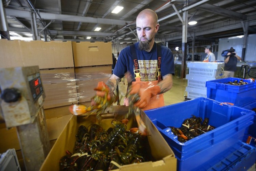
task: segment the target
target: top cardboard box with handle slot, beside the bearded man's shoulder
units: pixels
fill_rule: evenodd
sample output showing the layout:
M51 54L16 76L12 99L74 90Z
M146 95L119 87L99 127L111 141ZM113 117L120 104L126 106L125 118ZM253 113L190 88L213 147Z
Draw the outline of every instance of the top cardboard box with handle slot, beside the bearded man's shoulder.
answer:
M113 64L111 42L72 42L72 48L75 67Z

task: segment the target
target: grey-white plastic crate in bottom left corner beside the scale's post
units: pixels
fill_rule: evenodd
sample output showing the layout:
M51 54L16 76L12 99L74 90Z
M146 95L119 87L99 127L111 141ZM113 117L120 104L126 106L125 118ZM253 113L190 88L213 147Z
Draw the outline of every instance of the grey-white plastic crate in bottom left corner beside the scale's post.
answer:
M0 171L21 171L15 149L0 154Z

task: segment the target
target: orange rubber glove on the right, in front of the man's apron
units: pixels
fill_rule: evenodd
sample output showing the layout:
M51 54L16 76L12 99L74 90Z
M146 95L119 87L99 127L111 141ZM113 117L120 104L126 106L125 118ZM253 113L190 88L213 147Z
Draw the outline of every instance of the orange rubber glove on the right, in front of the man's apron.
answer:
M151 81L138 81L132 83L130 94L139 94L140 100L134 106L143 109L150 102L150 98L159 94L160 91L160 87Z

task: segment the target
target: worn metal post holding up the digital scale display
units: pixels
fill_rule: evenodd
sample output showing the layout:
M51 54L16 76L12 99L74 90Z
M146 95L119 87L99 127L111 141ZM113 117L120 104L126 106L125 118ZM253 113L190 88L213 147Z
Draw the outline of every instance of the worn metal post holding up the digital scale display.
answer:
M43 108L33 123L16 128L26 170L40 170L51 149Z

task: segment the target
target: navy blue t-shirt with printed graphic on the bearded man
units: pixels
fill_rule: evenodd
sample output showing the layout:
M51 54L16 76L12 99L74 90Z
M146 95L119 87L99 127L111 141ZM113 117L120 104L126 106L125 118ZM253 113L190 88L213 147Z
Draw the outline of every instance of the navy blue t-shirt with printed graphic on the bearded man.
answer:
M135 45L136 53L138 57L138 63L140 68L141 81L155 81L157 80L157 47L154 43L153 48L150 52L145 50L139 50L137 42ZM165 76L167 74L174 75L174 60L171 50L161 45L161 75ZM131 56L130 46L124 48L117 59L116 66L114 68L113 74L119 78L123 78L126 72L130 72L134 77L134 62Z

